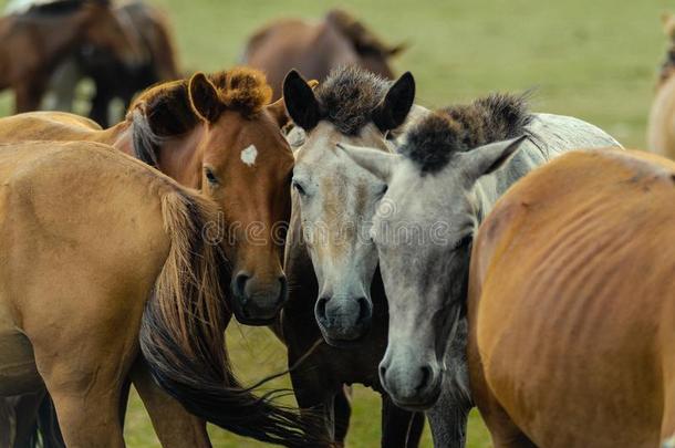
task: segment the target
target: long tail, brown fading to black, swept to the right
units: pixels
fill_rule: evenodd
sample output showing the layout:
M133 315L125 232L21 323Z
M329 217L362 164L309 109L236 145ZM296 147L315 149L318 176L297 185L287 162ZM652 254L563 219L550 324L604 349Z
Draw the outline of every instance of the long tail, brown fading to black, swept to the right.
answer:
M222 300L227 260L210 243L214 206L181 190L162 198L170 238L166 262L145 306L141 350L155 381L191 414L235 434L287 447L322 444L295 409L242 388L225 350L231 316Z

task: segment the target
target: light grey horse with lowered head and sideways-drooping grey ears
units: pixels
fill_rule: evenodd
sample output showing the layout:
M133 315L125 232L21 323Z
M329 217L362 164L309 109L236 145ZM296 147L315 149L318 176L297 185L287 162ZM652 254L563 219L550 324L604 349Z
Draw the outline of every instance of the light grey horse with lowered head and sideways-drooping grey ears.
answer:
M366 233L390 306L380 379L396 405L451 416L454 446L465 442L472 407L463 305L477 225L537 166L580 146L610 145L619 143L589 123L533 114L525 96L505 94L425 115L395 154L339 145L386 186Z

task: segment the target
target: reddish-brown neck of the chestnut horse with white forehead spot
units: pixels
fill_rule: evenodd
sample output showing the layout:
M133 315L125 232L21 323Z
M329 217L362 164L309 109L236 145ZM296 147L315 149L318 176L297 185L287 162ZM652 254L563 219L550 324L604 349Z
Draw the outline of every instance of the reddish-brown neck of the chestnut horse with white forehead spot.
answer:
M198 124L187 133L168 137L157 147L157 163L162 173L186 187L201 188L201 147L205 126Z

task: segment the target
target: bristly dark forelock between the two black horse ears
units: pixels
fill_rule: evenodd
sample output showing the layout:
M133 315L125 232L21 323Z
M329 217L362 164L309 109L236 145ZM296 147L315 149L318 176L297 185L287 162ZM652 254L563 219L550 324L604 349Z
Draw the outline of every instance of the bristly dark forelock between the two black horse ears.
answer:
M331 71L314 90L323 119L341 133L355 135L372 122L372 114L391 82L356 65Z

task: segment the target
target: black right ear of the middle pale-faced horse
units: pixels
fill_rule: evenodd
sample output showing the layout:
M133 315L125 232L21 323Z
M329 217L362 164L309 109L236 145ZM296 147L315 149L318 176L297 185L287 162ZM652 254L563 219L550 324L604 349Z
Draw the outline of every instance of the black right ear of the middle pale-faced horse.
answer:
M373 111L373 123L383 133L395 129L405 122L414 101L415 79L411 72L405 72Z

